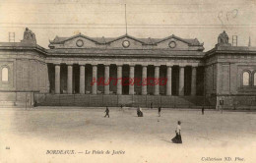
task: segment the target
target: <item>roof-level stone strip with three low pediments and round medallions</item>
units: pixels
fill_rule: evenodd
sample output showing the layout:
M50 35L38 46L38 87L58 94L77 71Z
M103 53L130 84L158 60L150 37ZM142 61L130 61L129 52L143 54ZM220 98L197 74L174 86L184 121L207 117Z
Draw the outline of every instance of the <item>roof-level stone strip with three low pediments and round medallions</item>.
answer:
M58 37L50 41L50 48L107 48L107 49L173 49L202 50L203 43L197 38L183 39L175 35L165 38L136 38L125 34L119 37L89 37L77 34L71 37Z

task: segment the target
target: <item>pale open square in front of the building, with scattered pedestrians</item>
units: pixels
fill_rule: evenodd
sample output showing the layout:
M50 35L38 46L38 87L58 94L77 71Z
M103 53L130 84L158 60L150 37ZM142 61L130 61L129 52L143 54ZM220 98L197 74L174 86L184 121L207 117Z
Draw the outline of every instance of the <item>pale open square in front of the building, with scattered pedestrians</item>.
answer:
M162 109L159 117L157 109L143 108L139 118L135 108L109 110L110 118L104 118L104 108L1 108L0 162L256 161L256 112L206 110L202 115L200 110ZM170 141L178 120L182 144ZM120 152L112 155L113 150Z

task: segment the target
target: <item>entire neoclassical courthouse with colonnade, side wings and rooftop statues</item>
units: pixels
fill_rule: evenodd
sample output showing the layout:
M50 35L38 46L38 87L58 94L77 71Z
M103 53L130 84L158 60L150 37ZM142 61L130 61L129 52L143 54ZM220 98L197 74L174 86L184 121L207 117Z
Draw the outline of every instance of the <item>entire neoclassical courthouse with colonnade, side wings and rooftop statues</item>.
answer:
M0 43L0 104L253 108L256 48L231 46L225 32L217 42L204 52L197 38L173 34L80 33L45 49L27 28L21 42Z

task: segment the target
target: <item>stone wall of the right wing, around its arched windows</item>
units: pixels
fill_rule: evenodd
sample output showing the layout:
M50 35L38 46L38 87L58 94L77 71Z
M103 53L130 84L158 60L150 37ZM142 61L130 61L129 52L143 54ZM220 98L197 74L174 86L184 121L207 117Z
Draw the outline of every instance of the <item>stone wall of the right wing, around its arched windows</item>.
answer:
M206 94L209 100L216 97L216 109L223 107L233 109L235 107L254 107L252 97L256 93L254 85L254 73L256 72L255 54L241 50L242 47L219 47L214 49L211 56L206 59ZM248 50L248 49L247 49ZM208 55L208 54L207 54ZM243 72L250 73L250 84L243 85ZM256 76L255 76L256 77ZM220 106L220 100L224 100L224 106ZM213 101L213 100L211 100ZM246 108L246 107L245 107Z

